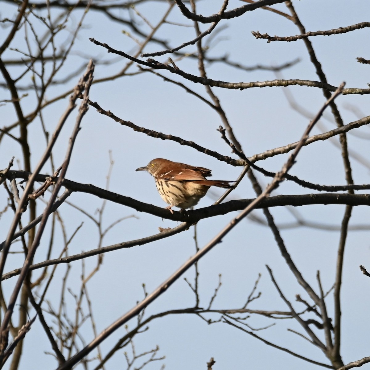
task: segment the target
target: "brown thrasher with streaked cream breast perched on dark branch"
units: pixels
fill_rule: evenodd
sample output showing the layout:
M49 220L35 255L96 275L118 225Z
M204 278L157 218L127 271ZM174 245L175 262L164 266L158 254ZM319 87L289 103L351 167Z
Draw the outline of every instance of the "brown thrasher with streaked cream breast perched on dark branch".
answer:
M146 167L139 167L136 171L148 171L154 177L159 195L169 204L166 209L171 213L174 213L171 209L174 206L181 209L195 206L210 186L234 187L229 184L233 181L207 180L207 176L212 176L210 169L163 158L153 159Z

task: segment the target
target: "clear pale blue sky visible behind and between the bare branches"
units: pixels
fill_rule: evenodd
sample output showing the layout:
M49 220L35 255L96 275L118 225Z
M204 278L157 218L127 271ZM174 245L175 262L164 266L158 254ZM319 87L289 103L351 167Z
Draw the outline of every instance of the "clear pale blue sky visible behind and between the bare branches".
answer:
M221 4L221 0L201 1L199 2L198 11L205 16L213 14L218 12ZM301 0L293 1L293 4L307 31L329 30L360 23L367 21L370 14L370 3L364 0L355 2L348 0ZM228 9L241 5L240 1L231 0ZM3 4L3 6L5 16L8 5ZM139 6L138 9L149 21L155 24L166 7L166 3L153 1ZM287 11L283 4L276 5L275 8ZM176 22L191 24L190 21L183 19L177 7L172 10L170 18ZM77 23L78 20L78 16L75 16L73 24ZM61 70L60 78L69 73L74 64L82 63L81 54L92 58L102 57L104 60L117 58L115 55L106 53L103 48L92 44L88 40L89 37L107 43L111 47L126 53L135 53L133 42L122 33L122 30L125 29L122 25L111 23L107 18L92 11L87 14L85 22L90 27L81 31L74 47L76 55ZM282 78L318 80L302 40L291 43L266 43L265 40L256 40L252 36L251 31L268 33L271 36L297 34L298 30L294 24L283 17L268 11L257 10L245 13L239 19L223 21L218 27L223 25L228 27L219 34L219 42L210 51L212 56L228 54L230 60L246 66L256 64L280 65L295 58L300 58L300 63L282 71ZM72 24L69 27L71 30L73 29ZM202 30L206 28L208 28L208 25L202 25ZM194 38L194 29L166 25L159 30L157 36L166 38L171 46L175 47ZM356 57L370 59L368 28L344 35L317 36L310 40L330 84L337 86L342 81L346 81L346 87L367 88L367 83L370 82L369 67L357 63ZM21 39L17 42L21 44ZM17 44L15 43L12 46L17 47ZM145 48L145 52L157 50L161 50L161 48L155 44L149 44ZM188 47L186 50L192 52L195 47ZM5 54L4 58L11 58L11 56L10 53ZM155 57L155 59L165 62L167 57L167 55L164 55ZM97 65L95 67L95 78L110 75L114 71L120 70L125 63L126 61L122 60L110 66ZM185 59L176 62L176 64L179 68L189 71L189 73L198 74L194 61ZM131 72L134 71L137 71L135 65L131 67ZM166 77L181 80L169 73L162 73ZM212 64L208 68L208 76L209 78L228 82L264 81L276 78L275 74L270 71L245 72L227 67L221 63ZM68 83L68 86L72 87L77 80L77 77L74 78ZM206 97L202 85L194 85L188 81L185 81L185 84ZM57 96L66 88L67 86L51 88L47 98L51 99ZM309 119L290 108L282 88L266 87L243 91L215 88L213 91L219 97L230 124L235 130L235 135L248 156L297 141L309 122ZM311 112L312 115L319 110L325 101L322 92L316 88L295 86L289 87L289 91L297 103ZM3 98L9 98L7 92L3 91ZM165 134L176 135L186 140L193 140L197 144L221 154L232 155L230 148L222 141L219 132L216 131L219 125L222 124L218 115L194 96L152 74L118 78L114 81L93 85L90 91L90 99L97 101L103 109L110 110L122 119L132 121L139 126ZM26 113L33 109L33 104L32 96L24 98L22 101ZM67 104L68 98L65 98L45 110L44 119L50 131L55 127ZM369 97L367 95L346 95L339 97L337 104L344 123L347 124L355 121L358 117L347 110L346 105L355 105L366 115L368 114ZM1 107L1 110L3 125L15 120L13 108L9 104ZM57 151L54 153L54 162L58 165L64 158L68 137L74 125L75 114L77 114L77 110L68 120L68 124L58 140ZM335 127L331 121L329 111L326 112L326 117L330 119L323 119L321 122L325 131ZM40 134L40 129L37 127L37 121L33 122L32 125L33 127L30 127L30 141L34 145L31 148L31 158L33 165L35 165L45 147L45 143ZM364 137L369 135L368 127L362 127L358 131ZM314 128L313 134L319 132L322 131L317 127ZM348 135L348 141L352 149L369 159L367 140ZM163 207L165 203L157 193L154 180L146 173L135 172L136 168L146 165L153 158L163 157L210 168L215 179L235 179L241 170L175 142L162 141L148 137L145 134L133 132L131 129L97 113L94 108L90 107L83 120L81 132L78 134L66 177L73 181L104 187L109 167L108 152L110 150L115 162L112 169L110 190L142 202ZM2 142L0 146L0 167L5 168L13 155L21 161L19 148L10 140ZM235 157L235 155L232 156ZM278 171L286 158L286 156L279 156L260 162L259 165L269 171ZM368 184L370 182L369 168L359 164L353 158L352 164L355 183ZM44 172L48 171L50 171L49 168L44 169ZM340 150L326 141L317 142L303 148L296 165L290 173L314 183L325 185L345 184ZM259 179L263 185L270 182L270 179L262 176L259 176ZM295 184L285 182L276 194L306 194L310 192L307 189L299 188ZM221 194L218 189L215 190L215 193ZM4 199L3 189L1 189L1 194L1 199ZM228 199L253 197L253 189L248 180L245 179L244 183ZM101 205L100 201L90 195L73 194L69 200L90 212L95 212ZM212 201L212 196L206 196L197 207L210 205ZM1 203L0 208L2 207L3 203ZM309 221L338 226L344 213L344 206L306 206L295 211ZM41 206L38 212L41 212ZM81 231L70 245L70 254L97 248L98 233L91 221L68 205L64 205L60 212L64 217L65 225L70 233L69 236L84 221ZM294 220L286 209L272 209L271 212L277 225ZM175 222L162 221L154 216L139 213L116 204L107 205L104 225L108 226L110 222L118 217L129 215L135 215L138 218L129 218L115 226L103 240L103 246L155 234L158 232L159 226L164 228L176 226ZM218 233L218 230L225 226L235 215L236 213L233 213L199 222L199 246L203 246L211 240ZM260 211L256 211L256 215L263 218ZM353 224L368 223L368 220L369 211L365 207L353 209L353 221L351 221ZM8 222L6 219L1 219L0 229L3 231L1 235L4 235ZM111 322L134 306L137 300L142 299L142 283L146 284L146 289L150 293L194 254L193 235L194 229L192 228L173 238L127 250L117 250L104 256L104 264L101 266L100 272L88 283L98 332L101 332ZM298 268L305 278L312 283L313 287L317 289L316 271L320 270L324 290L330 289L335 272L339 232L325 232L311 228L284 229L282 230L282 237L293 261L297 263ZM46 248L47 238L40 245L35 262L40 262L40 259L43 259L43 251ZM58 255L59 250L56 248L54 258ZM96 259L96 257L92 257L85 261L87 271L95 266ZM367 307L369 307L370 301L367 292L369 281L360 273L358 268L360 264L366 264L368 260L369 232L351 232L345 254L342 288L342 354L344 363L369 356L367 330L362 329L367 327L368 323ZM201 306L208 305L209 297L212 296L217 286L219 273L222 274L223 285L214 308L220 309L242 306L254 285L258 273L262 273L258 288L262 291L262 297L253 302L250 308L287 310L269 279L265 268L266 264L273 269L277 282L292 302L295 301L296 294L302 294L303 296L303 290L297 285L280 256L271 231L265 226L245 220L199 263ZM81 261L73 262L71 266L69 284L78 291ZM14 258L6 266L5 271L16 267L20 267L20 259ZM52 288L57 296L60 291L60 279L64 273L65 266L59 266L56 272L57 279L55 279ZM37 273L34 276L36 278ZM194 269L189 270L185 276L193 281ZM8 280L4 283L4 287L10 289L12 284L13 280ZM51 290L49 294L50 300L53 300ZM73 312L74 306L72 301L70 303L70 309ZM184 280L179 279L165 295L159 297L156 302L147 308L147 315L163 310L191 307L192 305L194 305L194 296ZM327 299L327 306L329 309L332 308L330 298ZM298 307L300 306L297 306L297 310L299 310ZM330 315L332 315L331 310ZM213 318L215 317L213 316ZM249 320L252 327L262 327L271 323L271 320L260 317L252 317ZM135 320L132 320L129 327L132 329L134 325ZM157 319L149 326L150 329L146 333L140 334L134 339L137 352L149 350L158 344L161 349L159 355L166 356L163 361L166 369L206 369L206 362L211 357L216 360L214 370L233 368L253 370L299 368L312 370L318 368L313 364L268 347L226 324L218 323L208 326L204 321L191 315ZM276 323L276 326L258 332L258 334L303 356L328 363L316 347L311 346L295 334L287 332L287 327L302 332L295 322L280 320ZM113 334L111 339L107 340L107 343L102 345L103 354L124 332L125 329L122 327ZM54 369L56 363L53 357L44 354L44 351L50 351L50 348L47 346L47 339L41 329L31 330L27 337L31 337L33 340L26 341L20 369ZM85 328L84 339L87 343L93 339L88 325ZM33 344L31 345L31 343ZM155 362L148 365L147 369L159 369L160 366L161 363ZM369 365L363 367L366 369ZM93 367L91 366L91 368ZM79 365L77 369L82 369L82 366ZM123 354L116 354L107 363L106 369L125 369Z

